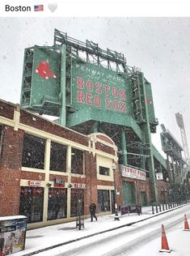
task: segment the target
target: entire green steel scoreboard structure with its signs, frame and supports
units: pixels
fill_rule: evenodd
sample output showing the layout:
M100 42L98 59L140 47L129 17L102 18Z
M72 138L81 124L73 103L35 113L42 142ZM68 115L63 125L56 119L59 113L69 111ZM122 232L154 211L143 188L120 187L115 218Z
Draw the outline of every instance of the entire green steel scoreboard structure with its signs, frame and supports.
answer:
M146 170L152 200L158 201L155 160L166 166L151 143L158 125L151 84L141 70L127 66L122 53L55 30L53 46L25 49L20 103L83 134L108 134L119 164Z

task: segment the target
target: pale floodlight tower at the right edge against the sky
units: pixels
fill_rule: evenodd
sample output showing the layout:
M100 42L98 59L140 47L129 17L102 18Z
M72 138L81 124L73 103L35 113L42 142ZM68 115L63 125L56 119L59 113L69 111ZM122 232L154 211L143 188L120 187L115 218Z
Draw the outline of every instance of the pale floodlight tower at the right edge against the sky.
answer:
M175 118L181 132L181 139L184 147L184 158L186 163L190 164L190 156L188 152L188 141L187 141L187 137L184 129L184 118L181 113L175 113Z

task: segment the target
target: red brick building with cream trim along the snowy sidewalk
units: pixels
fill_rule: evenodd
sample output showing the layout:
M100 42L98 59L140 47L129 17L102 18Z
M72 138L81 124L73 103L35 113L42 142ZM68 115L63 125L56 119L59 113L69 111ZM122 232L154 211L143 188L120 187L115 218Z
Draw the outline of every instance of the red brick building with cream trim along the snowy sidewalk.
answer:
M136 203L142 204L143 193L150 203L149 179L125 177L117 160L117 147L107 135L79 134L0 100L1 216L26 215L27 228L36 228L76 220L78 207L89 217L91 202L98 215L110 214L113 162L118 206L125 204L125 184L135 186ZM162 201L166 182L158 183Z

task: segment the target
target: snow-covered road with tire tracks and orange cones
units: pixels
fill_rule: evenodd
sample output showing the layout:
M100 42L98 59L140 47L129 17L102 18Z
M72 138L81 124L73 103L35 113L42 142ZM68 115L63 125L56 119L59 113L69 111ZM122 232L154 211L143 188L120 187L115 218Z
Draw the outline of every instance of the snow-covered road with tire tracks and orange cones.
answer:
M155 216L150 220L144 220L140 223L133 224L129 227L119 228L110 233L99 234L95 237L89 237L84 241L77 241L74 245L68 245L60 248L60 253L49 255L82 255L82 256L118 256L118 255L168 255L159 253L161 249L161 226L164 224L168 236L171 234L171 239L177 237L177 240L172 244L171 254L176 256L190 256L190 249L184 250L184 245L179 246L177 243L179 237L190 239L190 232L184 232L184 214L190 217L189 205L164 213L163 215ZM188 214L189 212L189 214ZM175 235L175 236L174 236ZM186 242L189 244L189 242ZM186 244L185 244L186 245ZM177 248L175 248L177 246ZM180 249L182 247L182 249ZM170 249L172 249L170 248ZM180 251L181 250L181 251ZM184 250L184 251L183 251Z

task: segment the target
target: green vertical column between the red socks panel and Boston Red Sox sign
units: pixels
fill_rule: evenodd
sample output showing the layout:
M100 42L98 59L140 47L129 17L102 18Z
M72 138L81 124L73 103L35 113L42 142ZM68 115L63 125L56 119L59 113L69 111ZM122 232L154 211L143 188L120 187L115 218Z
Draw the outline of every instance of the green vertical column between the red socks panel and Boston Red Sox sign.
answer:
M66 105L65 105L65 87L66 87L66 45L61 47L61 109L60 125L66 124Z

